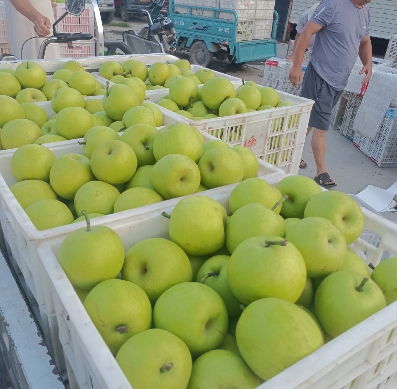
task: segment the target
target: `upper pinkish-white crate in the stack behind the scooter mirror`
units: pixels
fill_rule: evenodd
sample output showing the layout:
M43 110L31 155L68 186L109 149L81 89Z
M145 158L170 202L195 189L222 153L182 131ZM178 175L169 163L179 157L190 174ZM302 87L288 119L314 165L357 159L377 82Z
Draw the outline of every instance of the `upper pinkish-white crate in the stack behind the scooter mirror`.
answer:
M65 4L57 4L53 8L55 20L59 19L65 12ZM83 32L90 33L92 36L95 34L95 15L94 6L91 4L85 4L83 13L80 16L66 15L60 23L57 25L58 32Z

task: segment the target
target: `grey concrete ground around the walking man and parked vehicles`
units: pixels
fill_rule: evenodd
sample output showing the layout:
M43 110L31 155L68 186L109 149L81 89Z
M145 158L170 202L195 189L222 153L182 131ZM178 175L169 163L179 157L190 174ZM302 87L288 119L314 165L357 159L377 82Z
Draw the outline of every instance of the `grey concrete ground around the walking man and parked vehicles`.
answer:
M119 24L119 26L118 26ZM110 25L104 25L106 35L111 39L121 39L121 32L126 28L139 31L144 21L139 17L132 17L128 27L120 26L120 21ZM288 45L277 44L277 57L285 58ZM265 70L265 61L256 61L249 65L232 66L226 61L214 60L211 68L236 77L252 80L262 84ZM314 178L316 176L316 165L310 145L311 135L308 136L303 150L303 158L308 164L306 169L300 169L299 174ZM337 184L337 190L348 194L357 194L368 185L374 185L386 189L397 181L397 168L380 168L364 155L353 143L340 134L339 130L333 130L332 126L327 134L326 165L332 179ZM383 213L388 219L397 221L397 213Z

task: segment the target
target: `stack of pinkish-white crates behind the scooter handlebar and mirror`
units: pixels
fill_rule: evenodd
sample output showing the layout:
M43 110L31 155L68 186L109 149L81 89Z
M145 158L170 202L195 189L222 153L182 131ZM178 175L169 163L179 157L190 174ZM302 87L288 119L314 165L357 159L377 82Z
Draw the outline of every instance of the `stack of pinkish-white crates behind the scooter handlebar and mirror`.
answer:
M57 4L54 7L55 20L60 18L66 11L65 4ZM92 4L85 4L83 13L76 17L67 15L58 25L58 32L69 33L90 33L94 37L95 23L94 23L94 7ZM73 49L68 49L66 43L60 43L61 58L86 58L95 56L95 40L91 41L75 41L73 42Z

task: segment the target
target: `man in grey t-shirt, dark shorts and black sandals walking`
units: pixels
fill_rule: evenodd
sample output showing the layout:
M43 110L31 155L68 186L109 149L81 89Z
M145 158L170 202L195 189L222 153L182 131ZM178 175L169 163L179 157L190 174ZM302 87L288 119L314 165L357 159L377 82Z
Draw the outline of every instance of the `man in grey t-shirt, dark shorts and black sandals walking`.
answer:
M357 55L363 68L363 83L372 75L372 45L369 37L371 0L323 0L302 30L295 48L295 61L289 79L297 87L302 79L301 65L311 37L316 34L312 58L306 68L302 97L315 101L307 134L314 128L312 149L321 186L336 186L325 166L326 131L331 110L347 84ZM301 162L301 167L305 167Z

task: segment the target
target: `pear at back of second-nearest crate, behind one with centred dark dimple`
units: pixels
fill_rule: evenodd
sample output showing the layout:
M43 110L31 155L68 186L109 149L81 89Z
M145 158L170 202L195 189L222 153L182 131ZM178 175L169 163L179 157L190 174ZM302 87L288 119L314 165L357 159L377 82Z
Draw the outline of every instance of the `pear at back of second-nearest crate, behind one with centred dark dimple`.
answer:
M153 141L153 155L159 161L169 154L182 154L198 162L203 141L193 126L185 123L166 126L158 130Z

